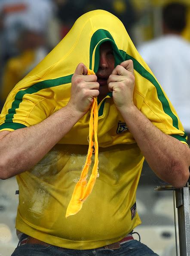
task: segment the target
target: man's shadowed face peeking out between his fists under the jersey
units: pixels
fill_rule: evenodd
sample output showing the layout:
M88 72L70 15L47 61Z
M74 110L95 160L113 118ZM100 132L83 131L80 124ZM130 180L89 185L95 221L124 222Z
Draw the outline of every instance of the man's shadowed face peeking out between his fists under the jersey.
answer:
M111 75L114 69L115 59L113 56L113 49L109 42L105 42L100 46L100 62L99 68L96 72L97 82L100 84L99 87L99 98L103 99L104 96L109 92L107 87L107 79Z

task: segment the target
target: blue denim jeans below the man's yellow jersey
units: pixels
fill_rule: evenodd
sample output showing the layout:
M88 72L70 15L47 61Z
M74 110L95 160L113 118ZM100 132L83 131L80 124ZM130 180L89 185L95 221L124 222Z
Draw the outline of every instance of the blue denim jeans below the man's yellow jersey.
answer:
M121 244L119 249L71 250L53 245L25 244L18 246L12 256L158 256L138 240Z

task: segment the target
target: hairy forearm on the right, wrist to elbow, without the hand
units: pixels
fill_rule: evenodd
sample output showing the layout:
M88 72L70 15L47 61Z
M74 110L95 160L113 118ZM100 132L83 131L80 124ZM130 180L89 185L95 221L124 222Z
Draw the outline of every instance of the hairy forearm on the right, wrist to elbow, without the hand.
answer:
M190 149L162 133L135 106L119 111L156 175L175 187L184 186L189 177Z

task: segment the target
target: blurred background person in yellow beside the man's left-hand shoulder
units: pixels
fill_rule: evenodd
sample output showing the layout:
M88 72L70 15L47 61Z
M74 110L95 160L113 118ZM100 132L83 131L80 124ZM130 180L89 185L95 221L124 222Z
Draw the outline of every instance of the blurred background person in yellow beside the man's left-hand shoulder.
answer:
M13 87L46 56L45 35L32 30L21 31L17 40L19 54L9 58L2 75L0 100L5 102Z

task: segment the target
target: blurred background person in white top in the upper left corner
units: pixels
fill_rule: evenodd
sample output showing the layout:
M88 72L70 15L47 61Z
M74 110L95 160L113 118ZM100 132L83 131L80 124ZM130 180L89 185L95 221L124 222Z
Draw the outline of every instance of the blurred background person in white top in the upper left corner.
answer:
M18 54L15 42L23 28L47 33L54 8L53 0L0 0L3 62Z

